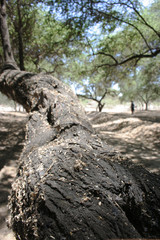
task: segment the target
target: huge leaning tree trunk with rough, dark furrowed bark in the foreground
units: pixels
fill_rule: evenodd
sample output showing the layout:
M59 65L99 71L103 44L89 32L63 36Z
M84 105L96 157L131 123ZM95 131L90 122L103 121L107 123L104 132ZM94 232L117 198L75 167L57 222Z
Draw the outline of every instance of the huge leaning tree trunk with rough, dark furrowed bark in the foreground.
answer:
M9 203L17 240L160 238L160 177L103 143L66 85L5 70L0 90L29 112Z

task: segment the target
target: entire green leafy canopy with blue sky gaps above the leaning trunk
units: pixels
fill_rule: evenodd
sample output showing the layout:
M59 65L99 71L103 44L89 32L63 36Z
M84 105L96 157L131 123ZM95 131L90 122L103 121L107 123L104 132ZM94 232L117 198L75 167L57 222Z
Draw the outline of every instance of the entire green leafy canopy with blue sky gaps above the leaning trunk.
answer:
M159 5L159 0L147 8L138 0L7 1L16 62L22 70L52 73L83 87L89 98L94 88L100 99L99 89L127 83L142 59L156 62Z

